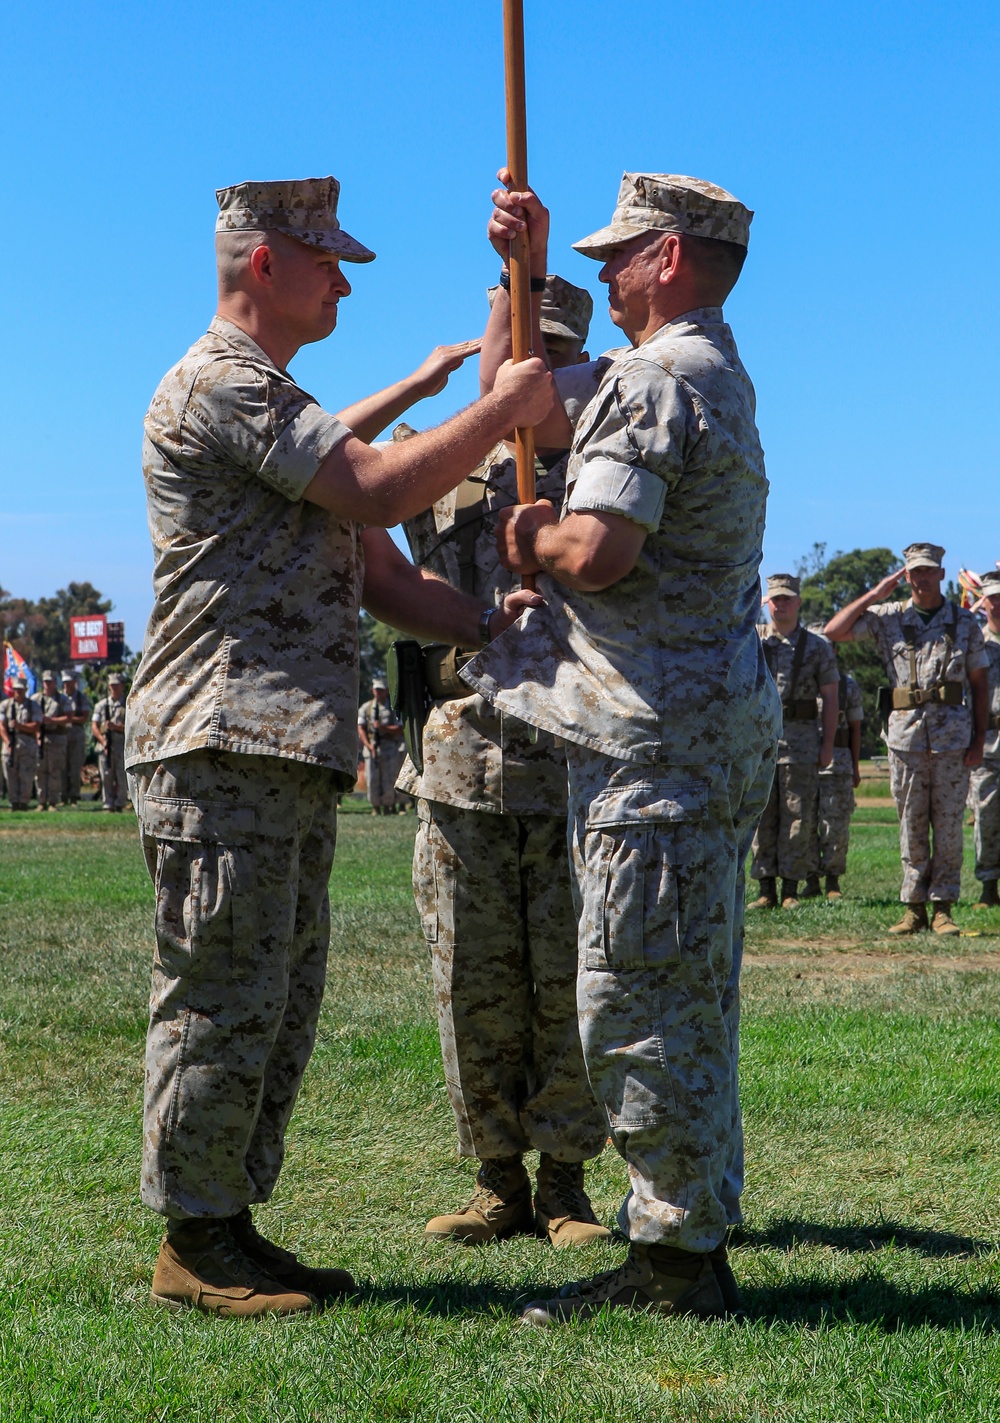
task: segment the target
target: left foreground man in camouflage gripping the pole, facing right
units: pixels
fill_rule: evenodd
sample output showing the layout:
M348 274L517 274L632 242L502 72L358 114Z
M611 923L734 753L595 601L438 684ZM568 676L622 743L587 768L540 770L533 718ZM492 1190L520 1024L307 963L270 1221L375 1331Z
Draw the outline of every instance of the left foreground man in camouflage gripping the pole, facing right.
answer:
M219 191L218 314L145 420L155 603L127 720L156 884L141 1190L166 1218L154 1301L215 1313L293 1313L353 1288L265 1239L250 1207L275 1190L323 998L337 793L357 767L358 603L422 636L474 635L475 599L434 585L417 606L421 575L383 527L552 404L542 363L525 361L378 451L366 440L468 351L435 353L340 416L306 394L286 367L333 332L341 260L374 256L341 229L339 191ZM361 525L376 525L367 571ZM525 602L512 595L511 615Z

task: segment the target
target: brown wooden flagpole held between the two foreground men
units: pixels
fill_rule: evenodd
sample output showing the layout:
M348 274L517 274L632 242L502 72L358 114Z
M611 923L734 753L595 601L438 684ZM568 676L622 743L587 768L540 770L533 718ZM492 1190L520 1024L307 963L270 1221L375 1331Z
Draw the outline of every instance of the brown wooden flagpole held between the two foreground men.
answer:
M523 0L504 0L504 88L506 94L506 166L511 188L528 188L528 120L525 114L525 17ZM511 242L511 337L515 361L532 354L531 319L531 252L528 233L519 232ZM535 502L535 431L523 427L515 431L518 460L518 502ZM525 588L533 588L533 578L523 578Z

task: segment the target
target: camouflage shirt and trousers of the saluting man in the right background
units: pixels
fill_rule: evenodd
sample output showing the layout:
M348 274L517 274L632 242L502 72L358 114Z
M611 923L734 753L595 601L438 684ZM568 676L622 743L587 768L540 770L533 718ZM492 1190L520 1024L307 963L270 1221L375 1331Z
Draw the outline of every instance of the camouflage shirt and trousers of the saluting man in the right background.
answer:
M954 639L947 646L953 615ZM892 794L899 811L903 904L954 904L962 882L962 821L969 794L964 754L972 740L967 670L987 666L983 633L966 608L945 602L925 623L912 602L876 603L861 615L851 639L875 639L893 687L910 683L905 629L912 629L916 680L922 689L956 682L962 706L927 702L892 712L886 743ZM933 828L933 852L930 832Z

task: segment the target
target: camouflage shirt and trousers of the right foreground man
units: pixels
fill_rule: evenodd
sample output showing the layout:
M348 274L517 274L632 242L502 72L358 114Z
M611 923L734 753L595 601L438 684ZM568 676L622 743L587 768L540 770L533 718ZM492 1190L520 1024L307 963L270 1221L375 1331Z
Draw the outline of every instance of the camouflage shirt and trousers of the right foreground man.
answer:
M633 1242L704 1252L740 1220L743 859L780 730L755 630L767 478L720 309L600 374L563 509L640 524L636 566L596 593L539 578L546 606L462 676L568 743L578 1006L629 1167L619 1220Z

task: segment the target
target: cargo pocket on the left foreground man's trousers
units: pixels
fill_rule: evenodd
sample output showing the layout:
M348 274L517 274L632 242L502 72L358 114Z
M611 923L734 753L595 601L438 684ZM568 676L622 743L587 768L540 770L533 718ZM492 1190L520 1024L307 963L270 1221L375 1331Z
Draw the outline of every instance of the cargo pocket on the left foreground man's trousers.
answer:
M156 968L245 982L257 962L253 807L147 795L142 835L156 845Z

